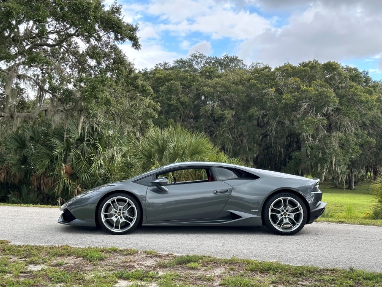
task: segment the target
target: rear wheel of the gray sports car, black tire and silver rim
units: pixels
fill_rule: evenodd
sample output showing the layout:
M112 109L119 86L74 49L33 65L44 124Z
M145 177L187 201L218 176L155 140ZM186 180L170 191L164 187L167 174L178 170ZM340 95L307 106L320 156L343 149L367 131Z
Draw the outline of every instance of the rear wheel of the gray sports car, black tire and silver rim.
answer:
M308 211L297 195L281 192L272 195L262 210L264 225L278 235L293 235L306 224Z

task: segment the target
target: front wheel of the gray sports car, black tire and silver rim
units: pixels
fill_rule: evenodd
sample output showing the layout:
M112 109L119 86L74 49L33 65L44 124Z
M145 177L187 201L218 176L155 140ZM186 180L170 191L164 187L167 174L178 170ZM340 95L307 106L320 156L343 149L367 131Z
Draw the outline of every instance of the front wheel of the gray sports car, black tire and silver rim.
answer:
M142 217L141 206L134 197L126 193L114 193L106 197L97 213L100 226L116 235L131 233Z

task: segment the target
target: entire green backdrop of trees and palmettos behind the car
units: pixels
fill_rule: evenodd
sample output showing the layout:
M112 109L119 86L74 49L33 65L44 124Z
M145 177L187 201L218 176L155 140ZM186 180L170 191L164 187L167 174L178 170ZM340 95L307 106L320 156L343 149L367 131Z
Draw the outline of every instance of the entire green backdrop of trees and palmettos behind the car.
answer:
M175 161L234 161L353 189L382 162L381 82L337 62L195 53L136 71L122 6L0 2L0 201L58 203ZM235 160L230 160L229 155Z

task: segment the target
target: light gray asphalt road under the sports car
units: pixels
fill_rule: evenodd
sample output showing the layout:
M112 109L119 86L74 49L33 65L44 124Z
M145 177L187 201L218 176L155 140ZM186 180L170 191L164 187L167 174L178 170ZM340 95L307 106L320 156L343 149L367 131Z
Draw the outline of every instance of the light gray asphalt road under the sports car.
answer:
M60 214L55 208L0 206L0 240L237 257L382 273L381 227L313 223L294 236L272 235L263 227L146 227L118 236L60 225Z

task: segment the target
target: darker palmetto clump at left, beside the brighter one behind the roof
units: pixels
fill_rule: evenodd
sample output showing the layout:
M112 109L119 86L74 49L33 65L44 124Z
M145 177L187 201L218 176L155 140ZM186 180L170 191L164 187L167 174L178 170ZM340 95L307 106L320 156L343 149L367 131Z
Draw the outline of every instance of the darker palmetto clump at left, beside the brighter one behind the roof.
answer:
M56 198L60 204L113 181L129 145L129 137L109 124L80 130L74 119L56 127L24 125L7 135L0 182L8 187L9 202L36 204L41 198Z

